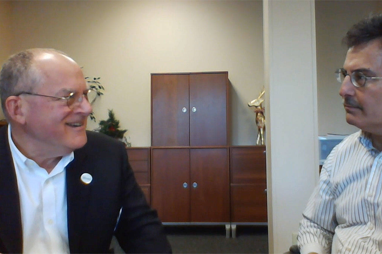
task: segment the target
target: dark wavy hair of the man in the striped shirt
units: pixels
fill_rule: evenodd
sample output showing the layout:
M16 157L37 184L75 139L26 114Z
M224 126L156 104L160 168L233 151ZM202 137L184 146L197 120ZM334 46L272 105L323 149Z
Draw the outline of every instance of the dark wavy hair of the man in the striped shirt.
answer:
M354 24L342 39L348 48L382 38L382 14L369 14Z

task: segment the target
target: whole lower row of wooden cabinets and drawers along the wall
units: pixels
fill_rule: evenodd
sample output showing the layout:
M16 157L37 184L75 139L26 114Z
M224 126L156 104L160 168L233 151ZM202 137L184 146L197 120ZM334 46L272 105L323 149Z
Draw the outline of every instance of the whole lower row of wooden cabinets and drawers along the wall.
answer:
M265 146L127 148L164 224L267 224Z

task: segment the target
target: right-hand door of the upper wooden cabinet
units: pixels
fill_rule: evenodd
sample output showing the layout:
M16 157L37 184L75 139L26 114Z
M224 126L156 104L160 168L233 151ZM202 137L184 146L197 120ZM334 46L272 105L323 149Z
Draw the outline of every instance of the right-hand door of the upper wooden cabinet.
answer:
M189 104L190 145L227 145L227 73L190 74Z

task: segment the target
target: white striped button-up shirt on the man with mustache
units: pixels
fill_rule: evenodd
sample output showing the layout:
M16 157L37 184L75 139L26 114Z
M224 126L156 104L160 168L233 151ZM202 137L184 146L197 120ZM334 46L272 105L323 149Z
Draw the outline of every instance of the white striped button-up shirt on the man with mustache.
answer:
M382 252L382 152L358 131L333 148L298 232L301 253Z

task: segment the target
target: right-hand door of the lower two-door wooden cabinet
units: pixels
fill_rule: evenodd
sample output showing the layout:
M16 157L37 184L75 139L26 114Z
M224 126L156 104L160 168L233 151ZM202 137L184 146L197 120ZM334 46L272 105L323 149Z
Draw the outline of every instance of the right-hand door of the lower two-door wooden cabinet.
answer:
M230 221L227 150L190 150L191 222Z

